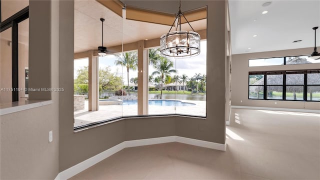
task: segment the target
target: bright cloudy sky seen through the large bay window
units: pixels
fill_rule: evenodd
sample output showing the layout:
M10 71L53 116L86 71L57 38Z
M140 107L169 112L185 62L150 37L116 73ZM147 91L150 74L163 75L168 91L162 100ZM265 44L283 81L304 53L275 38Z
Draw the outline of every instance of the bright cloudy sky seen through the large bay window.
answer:
M194 76L195 73L206 74L206 40L200 42L201 52L199 55L189 58L169 58L173 61L178 75L186 74L189 78ZM123 75L123 81L126 82L126 68L120 65L115 65L114 61L117 59L114 55L99 56L99 67L109 66L112 72L118 72L118 76ZM74 78L76 78L77 69L83 68L88 65L88 58L74 60ZM149 66L149 74L154 71L152 65ZM174 74L172 74L173 76ZM129 79L137 77L137 70L129 71Z

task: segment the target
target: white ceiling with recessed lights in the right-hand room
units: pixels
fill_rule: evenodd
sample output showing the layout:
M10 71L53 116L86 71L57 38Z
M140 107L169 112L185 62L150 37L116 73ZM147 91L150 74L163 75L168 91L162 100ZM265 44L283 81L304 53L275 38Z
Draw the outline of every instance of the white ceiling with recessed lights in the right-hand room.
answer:
M263 7L268 1L272 3ZM229 14L232 54L312 47L320 0L229 0ZM316 33L320 46L320 30Z

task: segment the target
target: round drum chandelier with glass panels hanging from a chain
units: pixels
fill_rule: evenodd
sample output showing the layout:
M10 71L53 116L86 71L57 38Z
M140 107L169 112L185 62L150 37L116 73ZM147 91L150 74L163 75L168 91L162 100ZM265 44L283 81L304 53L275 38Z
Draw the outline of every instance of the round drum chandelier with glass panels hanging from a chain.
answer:
M186 30L181 30L181 16L184 17L193 31L188 32ZM176 23L175 31L170 32L174 23ZM160 52L166 57L190 57L200 53L200 35L194 32L189 21L181 12L181 0L179 11L175 16L169 32L160 37Z

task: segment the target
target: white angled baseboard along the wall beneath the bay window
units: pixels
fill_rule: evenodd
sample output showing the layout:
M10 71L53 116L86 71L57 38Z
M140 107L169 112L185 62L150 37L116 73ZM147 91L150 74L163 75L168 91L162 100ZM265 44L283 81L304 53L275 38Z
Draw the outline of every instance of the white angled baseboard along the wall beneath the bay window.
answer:
M200 147L207 147L217 150L223 150L226 149L226 144L220 144L215 142L209 142L204 140L198 140L198 139L192 139L187 137L181 137L181 136L165 136L165 137L155 137L155 138L147 138L147 139L138 139L138 140L127 140L123 141L111 148L106 149L105 151L98 153L78 164L73 165L70 168L67 168L63 170L62 172L58 173L55 177L56 180L66 180L77 173L91 167L92 165L100 162L101 160L107 158L108 156L122 150L126 147L136 147L136 146L142 146L142 145L151 145L151 144L158 144L158 143L166 143L166 142L181 142L191 145L196 145Z

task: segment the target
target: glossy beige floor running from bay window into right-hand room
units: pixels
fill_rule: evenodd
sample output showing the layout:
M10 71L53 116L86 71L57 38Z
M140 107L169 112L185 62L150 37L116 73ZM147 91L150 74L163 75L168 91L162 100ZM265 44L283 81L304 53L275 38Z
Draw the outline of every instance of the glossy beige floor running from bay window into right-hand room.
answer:
M320 179L320 114L232 109L226 151L124 148L71 179Z

